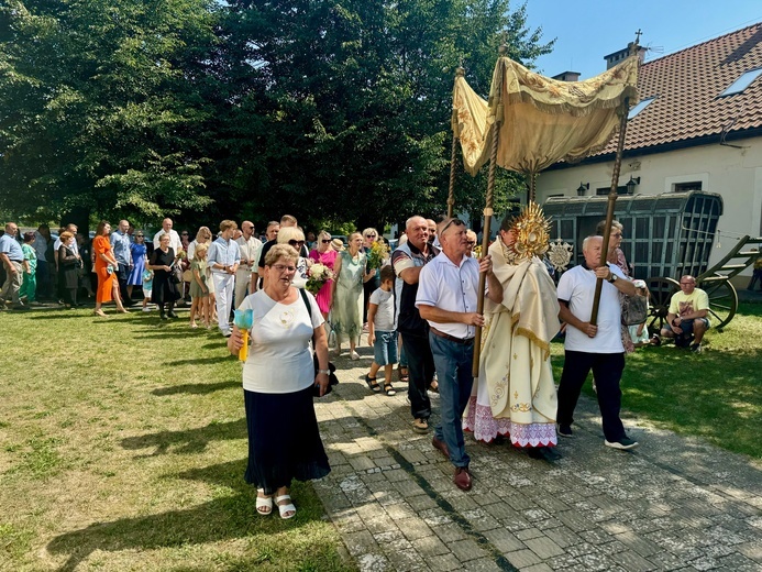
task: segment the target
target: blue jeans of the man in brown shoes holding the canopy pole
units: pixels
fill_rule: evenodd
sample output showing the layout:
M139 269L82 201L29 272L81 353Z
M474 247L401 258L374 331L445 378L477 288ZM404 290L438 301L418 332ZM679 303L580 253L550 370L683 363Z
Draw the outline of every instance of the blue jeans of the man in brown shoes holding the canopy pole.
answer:
M457 343L430 332L429 344L437 367L441 414L434 435L446 443L452 464L468 466L471 458L465 452L462 418L474 385L474 342Z

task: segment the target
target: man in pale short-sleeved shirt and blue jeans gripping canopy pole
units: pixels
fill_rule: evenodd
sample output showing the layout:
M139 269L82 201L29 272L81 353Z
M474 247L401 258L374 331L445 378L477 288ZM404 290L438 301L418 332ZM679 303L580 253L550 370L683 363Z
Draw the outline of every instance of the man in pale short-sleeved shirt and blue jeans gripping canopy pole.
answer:
M474 336L476 327L484 326L484 316L476 312L479 273L486 273L487 296L495 304L503 301L503 287L489 255L478 262L465 255L468 239L462 220L443 221L439 239L442 252L421 268L416 294L416 307L429 322L439 378L441 421L431 443L455 465L455 486L470 491L471 459L465 452L462 418L474 385Z

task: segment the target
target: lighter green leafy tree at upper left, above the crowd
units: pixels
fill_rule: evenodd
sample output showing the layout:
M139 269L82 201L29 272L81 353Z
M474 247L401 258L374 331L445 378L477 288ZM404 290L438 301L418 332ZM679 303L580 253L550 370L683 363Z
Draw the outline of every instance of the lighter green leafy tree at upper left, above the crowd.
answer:
M201 209L212 109L196 84L211 0L8 0L0 8L0 208L161 218Z

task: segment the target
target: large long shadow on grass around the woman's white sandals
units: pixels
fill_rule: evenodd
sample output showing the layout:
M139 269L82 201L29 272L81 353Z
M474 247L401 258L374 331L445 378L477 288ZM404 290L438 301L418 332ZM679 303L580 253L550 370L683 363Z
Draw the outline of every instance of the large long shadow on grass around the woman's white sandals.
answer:
M209 542L295 531L308 543L302 548L306 556L314 554L321 559L333 560L334 547L321 546L318 538L310 541L316 524L321 522L322 505L311 485L294 483L291 494L297 504L297 515L290 520L281 520L276 515L268 518L254 516L256 492L243 480L245 459L191 470L180 474L165 475L166 479L205 481L222 485L232 494L222 498L181 510L168 510L157 515L137 518L122 518L111 522L98 522L87 528L74 530L55 537L47 544L52 554L67 554L68 560L59 569L62 572L76 570L89 556L101 550L117 552L123 550L155 550L200 546ZM301 529L305 530L301 530ZM298 530L298 532L297 532ZM312 546L309 546L309 544ZM256 548L255 548L256 550ZM288 550L288 547L284 547ZM252 566L256 569L256 552L252 554ZM317 569L316 569L317 570Z

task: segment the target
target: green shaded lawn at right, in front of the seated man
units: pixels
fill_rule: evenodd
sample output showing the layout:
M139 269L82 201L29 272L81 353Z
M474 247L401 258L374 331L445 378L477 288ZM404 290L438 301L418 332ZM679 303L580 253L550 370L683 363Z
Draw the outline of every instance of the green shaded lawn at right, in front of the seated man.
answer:
M741 304L724 332L709 330L700 355L671 342L627 356L622 407L654 425L762 459L762 304ZM556 381L563 345L553 344ZM592 385L584 392L594 397Z

